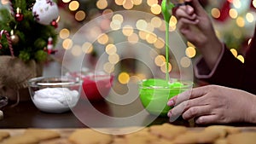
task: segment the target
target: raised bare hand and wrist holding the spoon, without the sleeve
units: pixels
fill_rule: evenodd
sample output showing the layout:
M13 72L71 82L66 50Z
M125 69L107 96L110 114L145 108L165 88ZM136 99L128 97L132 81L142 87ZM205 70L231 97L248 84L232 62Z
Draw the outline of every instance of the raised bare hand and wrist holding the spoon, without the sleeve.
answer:
M190 3L176 9L179 31L190 43L201 51L210 69L215 66L223 47L212 26L212 21L198 0L185 0Z

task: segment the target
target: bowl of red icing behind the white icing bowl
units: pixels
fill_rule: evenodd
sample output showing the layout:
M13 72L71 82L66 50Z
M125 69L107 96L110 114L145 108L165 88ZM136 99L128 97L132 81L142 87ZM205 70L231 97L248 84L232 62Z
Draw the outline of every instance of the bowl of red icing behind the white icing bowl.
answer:
M99 101L108 96L113 84L113 75L90 75L83 78L84 95L88 100Z

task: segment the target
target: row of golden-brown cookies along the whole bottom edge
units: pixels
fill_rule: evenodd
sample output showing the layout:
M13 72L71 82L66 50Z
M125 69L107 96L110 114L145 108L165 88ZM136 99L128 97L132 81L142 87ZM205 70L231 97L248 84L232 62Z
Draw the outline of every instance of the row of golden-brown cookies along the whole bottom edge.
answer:
M124 128L131 129L131 128ZM212 125L189 129L172 124L152 125L130 134L110 135L91 129L60 131L27 129L20 135L0 131L0 144L255 144L256 132L233 126Z

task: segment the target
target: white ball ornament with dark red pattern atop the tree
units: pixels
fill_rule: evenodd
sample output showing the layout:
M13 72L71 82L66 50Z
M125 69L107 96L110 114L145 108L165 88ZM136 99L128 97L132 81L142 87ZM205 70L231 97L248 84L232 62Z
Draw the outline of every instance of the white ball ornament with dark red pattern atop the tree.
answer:
M37 0L32 8L35 20L42 25L50 25L59 16L59 9L52 0Z

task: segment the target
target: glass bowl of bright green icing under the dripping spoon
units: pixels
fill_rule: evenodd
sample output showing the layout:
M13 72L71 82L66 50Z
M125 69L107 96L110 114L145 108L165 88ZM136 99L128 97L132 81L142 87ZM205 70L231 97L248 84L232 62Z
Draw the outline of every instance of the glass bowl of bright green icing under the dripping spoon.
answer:
M175 78L167 82L165 79L145 79L138 83L139 96L143 107L151 114L166 117L172 107L167 102L173 96L191 89L190 81L179 81Z

